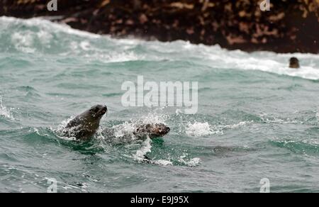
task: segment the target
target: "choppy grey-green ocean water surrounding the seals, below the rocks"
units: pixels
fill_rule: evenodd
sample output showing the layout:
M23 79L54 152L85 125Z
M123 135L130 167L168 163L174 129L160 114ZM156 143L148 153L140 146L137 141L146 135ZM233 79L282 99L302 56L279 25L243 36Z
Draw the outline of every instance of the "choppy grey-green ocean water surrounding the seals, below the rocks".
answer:
M301 69L289 69L296 56ZM125 107L125 81L198 82L198 113ZM113 39L0 17L0 191L319 192L319 56L247 53L184 41ZM106 104L119 137L139 121L171 132L143 142L58 135ZM142 161L147 155L152 163Z

